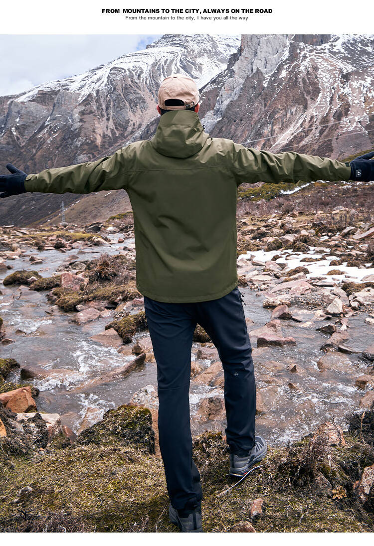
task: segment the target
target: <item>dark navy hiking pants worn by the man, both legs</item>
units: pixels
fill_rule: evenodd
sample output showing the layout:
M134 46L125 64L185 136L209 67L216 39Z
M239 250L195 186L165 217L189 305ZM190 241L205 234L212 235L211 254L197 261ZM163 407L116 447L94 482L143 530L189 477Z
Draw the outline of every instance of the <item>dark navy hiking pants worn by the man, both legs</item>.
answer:
M231 452L254 446L256 386L252 348L238 288L223 298L173 304L144 297L157 363L159 439L167 491L176 509L202 498L192 460L189 388L192 336L200 324L218 349L225 376L226 438Z

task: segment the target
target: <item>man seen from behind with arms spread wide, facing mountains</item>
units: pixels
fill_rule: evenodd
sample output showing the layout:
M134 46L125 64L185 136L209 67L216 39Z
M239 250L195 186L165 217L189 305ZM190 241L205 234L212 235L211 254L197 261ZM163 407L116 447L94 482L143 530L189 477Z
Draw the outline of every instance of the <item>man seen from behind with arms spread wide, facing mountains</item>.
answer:
M236 201L242 182L374 180L374 152L349 163L294 152L272 154L204 133L193 80L163 80L155 136L113 156L26 175L8 164L0 197L24 192L89 193L126 189L134 215L137 288L155 359L160 449L170 520L201 532L200 474L192 460L189 384L192 336L200 324L224 368L230 474L264 458L255 436L252 349L236 272Z

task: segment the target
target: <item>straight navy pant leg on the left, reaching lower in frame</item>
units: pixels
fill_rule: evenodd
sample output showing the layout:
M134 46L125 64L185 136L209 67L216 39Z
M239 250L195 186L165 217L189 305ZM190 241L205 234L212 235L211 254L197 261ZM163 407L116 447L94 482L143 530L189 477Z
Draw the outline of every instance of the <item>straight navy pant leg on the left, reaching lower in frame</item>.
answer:
M145 296L144 307L157 364L159 441L167 491L174 508L194 508L202 498L200 474L192 460L189 403L196 322L189 304Z

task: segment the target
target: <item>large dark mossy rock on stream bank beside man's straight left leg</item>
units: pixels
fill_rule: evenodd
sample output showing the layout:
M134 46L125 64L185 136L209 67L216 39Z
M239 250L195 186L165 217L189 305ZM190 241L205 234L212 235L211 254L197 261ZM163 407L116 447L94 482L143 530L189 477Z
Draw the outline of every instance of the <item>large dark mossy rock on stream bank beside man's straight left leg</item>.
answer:
M149 453L155 452L155 433L152 417L147 408L124 405L104 413L103 419L81 432L73 446L91 444L120 444L141 446Z

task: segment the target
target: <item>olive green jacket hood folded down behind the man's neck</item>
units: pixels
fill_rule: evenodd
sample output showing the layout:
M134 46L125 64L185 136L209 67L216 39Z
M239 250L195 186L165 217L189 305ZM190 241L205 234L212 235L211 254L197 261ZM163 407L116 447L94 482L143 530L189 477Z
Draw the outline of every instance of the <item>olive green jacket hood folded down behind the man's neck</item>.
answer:
M200 152L208 136L196 112L175 110L161 116L151 145L163 156L185 158Z

